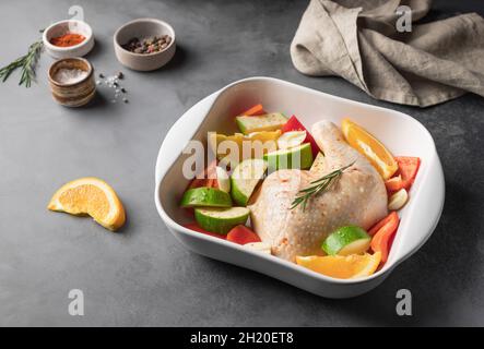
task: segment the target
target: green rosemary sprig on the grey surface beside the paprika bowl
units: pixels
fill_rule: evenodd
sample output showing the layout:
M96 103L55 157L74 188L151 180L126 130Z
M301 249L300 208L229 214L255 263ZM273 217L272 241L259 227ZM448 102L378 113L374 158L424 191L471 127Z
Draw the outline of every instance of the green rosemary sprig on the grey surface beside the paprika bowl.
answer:
M31 87L32 81L35 80L35 68L40 56L40 51L44 47L42 40L35 41L28 47L28 51L25 56L19 57L10 64L0 69L0 79L4 83L15 70L21 69L22 75L20 77L19 85L25 85Z

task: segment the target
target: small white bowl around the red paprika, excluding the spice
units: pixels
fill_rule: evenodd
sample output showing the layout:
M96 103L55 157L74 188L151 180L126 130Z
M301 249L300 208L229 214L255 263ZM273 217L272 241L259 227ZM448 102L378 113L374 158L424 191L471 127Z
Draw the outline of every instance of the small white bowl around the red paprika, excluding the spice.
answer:
M81 34L85 39L74 46L59 47L50 44L54 37L59 37L66 33ZM44 47L55 59L83 57L94 47L94 35L91 26L79 20L64 20L49 25L43 34Z

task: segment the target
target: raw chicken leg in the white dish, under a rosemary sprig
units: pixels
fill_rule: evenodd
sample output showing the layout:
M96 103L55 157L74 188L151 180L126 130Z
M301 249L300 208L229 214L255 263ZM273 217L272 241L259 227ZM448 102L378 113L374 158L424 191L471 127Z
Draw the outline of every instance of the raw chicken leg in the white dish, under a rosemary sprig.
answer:
M311 131L324 154L323 167L271 173L249 206L261 240L274 255L293 262L296 255L323 255L321 243L335 229L347 225L368 229L387 215L383 180L368 160L344 141L334 123L320 121ZM291 209L299 190L352 163L328 191L309 198L305 210L300 205Z

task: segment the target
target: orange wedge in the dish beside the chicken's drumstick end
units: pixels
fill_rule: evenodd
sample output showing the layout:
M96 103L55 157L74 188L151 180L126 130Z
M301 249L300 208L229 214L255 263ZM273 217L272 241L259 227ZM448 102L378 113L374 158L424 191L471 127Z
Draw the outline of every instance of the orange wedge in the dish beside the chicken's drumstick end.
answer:
M399 165L391 153L380 141L375 139L365 129L350 119L343 120L341 129L346 142L362 153L371 165L375 166L385 180L389 179L394 172L397 172Z

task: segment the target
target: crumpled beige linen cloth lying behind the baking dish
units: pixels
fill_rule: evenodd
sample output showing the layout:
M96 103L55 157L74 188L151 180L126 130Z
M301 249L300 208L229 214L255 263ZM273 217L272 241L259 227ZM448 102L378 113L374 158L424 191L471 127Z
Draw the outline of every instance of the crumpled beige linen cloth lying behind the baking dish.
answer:
M293 63L304 74L339 75L398 104L427 107L465 92L484 96L483 17L469 13L397 29L399 7L408 5L417 21L430 2L311 0L291 44Z

